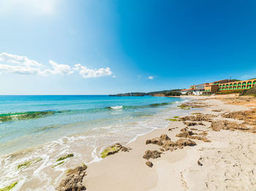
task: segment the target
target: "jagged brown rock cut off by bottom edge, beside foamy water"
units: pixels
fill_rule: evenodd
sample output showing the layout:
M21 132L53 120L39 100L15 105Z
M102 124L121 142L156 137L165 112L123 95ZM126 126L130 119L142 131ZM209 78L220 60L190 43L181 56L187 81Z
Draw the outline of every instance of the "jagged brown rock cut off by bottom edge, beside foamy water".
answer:
M86 187L82 184L83 176L86 176L86 165L80 165L74 169L67 171L67 176L61 181L57 191L80 191L86 190Z

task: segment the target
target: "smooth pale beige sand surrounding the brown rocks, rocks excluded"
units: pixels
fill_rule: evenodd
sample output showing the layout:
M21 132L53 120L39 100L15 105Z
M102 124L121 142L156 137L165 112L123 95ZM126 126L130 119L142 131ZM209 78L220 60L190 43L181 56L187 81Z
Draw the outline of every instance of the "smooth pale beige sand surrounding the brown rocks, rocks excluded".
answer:
M205 104L202 114L214 115L216 121L224 119L225 112L240 112L250 108L230 105L216 96L192 96L194 101ZM217 112L213 112L215 110ZM219 111L218 111L219 110ZM182 117L182 116L181 116ZM252 190L256 185L253 161L256 153L255 133L241 130L211 130L211 122L194 125L190 129L206 131L211 142L191 139L194 147L184 147L173 152L164 151L161 157L150 159L152 168L143 158L146 150L158 150L159 145L146 144L146 140L166 134L177 141L176 135L186 128L183 121L170 121L167 128L152 130L125 147L129 152L118 152L91 163L82 184L87 190ZM176 128L178 127L178 128ZM172 129L174 128L174 129ZM171 129L171 130L168 130ZM197 133L200 131L193 130ZM246 149L241 149L246 147ZM239 158L240 155L246 157ZM200 165L199 165L200 164ZM239 174L237 172L239 171ZM65 175L63 176L63 179ZM240 179L240 181L238 181Z

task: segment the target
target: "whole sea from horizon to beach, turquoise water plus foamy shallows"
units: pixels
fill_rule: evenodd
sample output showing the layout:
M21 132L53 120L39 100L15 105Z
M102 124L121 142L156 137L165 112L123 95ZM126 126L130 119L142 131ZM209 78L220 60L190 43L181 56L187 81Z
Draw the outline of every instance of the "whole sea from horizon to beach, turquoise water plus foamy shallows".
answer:
M68 168L102 160L167 119L189 114L186 98L109 95L0 95L0 188L54 190ZM72 154L57 163L59 157Z

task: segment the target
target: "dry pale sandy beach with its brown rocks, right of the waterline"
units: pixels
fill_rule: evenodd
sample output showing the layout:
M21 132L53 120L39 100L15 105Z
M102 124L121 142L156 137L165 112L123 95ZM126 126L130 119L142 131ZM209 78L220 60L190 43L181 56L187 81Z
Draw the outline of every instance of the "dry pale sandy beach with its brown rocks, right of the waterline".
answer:
M244 115L250 116L248 120L236 117L252 111L255 100L236 95L192 96L184 109L199 107L200 114L179 116L167 128L140 136L125 145L129 151L120 150L82 169L83 177L68 172L57 190L68 186L89 191L256 190L255 120L249 114ZM227 116L230 113L233 117ZM254 112L250 114L255 117ZM178 139L195 145L179 145ZM157 155L148 155L147 160L143 155L148 150ZM147 161L153 165L149 167Z

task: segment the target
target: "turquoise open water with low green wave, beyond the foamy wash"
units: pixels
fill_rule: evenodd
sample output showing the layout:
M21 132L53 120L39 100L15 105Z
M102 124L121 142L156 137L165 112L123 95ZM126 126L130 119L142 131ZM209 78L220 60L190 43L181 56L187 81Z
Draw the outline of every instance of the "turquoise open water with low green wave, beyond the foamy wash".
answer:
M147 120L180 98L1 95L0 155L89 130Z

